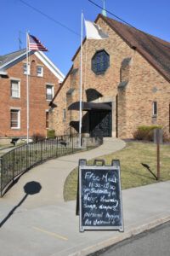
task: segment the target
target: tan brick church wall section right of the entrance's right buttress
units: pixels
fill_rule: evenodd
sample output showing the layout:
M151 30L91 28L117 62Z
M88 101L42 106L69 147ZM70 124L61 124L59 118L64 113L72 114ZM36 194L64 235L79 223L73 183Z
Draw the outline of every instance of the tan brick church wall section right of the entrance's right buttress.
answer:
M132 61L129 82L124 91L118 93L119 99L122 95L125 97L124 102L118 104L118 137L133 137L139 125L162 125L169 137L170 83L138 52L134 53ZM156 115L153 114L153 102L157 104Z

